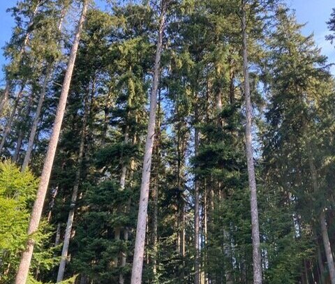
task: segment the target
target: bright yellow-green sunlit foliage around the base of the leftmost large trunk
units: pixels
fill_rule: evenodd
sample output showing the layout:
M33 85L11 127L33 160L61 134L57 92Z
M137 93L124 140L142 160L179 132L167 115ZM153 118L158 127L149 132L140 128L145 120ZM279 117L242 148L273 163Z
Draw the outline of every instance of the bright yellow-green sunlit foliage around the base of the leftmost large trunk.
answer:
M0 163L0 251L1 283L13 283L18 267L18 256L24 250L31 207L36 196L38 179L29 170L20 169L9 160ZM46 247L51 236L46 222L34 239L36 246L31 270L50 270L59 261L54 248Z

